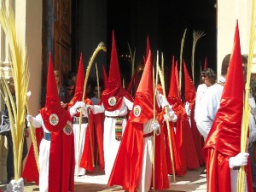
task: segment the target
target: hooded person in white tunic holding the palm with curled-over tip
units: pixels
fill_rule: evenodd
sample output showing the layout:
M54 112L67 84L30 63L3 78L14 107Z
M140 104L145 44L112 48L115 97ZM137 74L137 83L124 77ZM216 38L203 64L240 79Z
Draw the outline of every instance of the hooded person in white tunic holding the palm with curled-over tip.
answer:
M94 171L94 115L89 113L85 104L92 105L88 96L84 96L84 63L82 54L79 60L79 70L77 73L77 82L75 94L68 103L68 110L73 118L73 134L75 146L75 171L76 176L83 176L88 171ZM80 109L83 109L81 126L79 125Z

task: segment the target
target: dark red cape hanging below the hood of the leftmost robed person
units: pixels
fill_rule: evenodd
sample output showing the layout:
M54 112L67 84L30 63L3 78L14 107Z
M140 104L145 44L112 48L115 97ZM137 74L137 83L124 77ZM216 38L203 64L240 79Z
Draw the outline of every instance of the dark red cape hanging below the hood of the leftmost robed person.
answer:
M74 165L73 133L67 135L62 130L51 132L49 192L74 191Z

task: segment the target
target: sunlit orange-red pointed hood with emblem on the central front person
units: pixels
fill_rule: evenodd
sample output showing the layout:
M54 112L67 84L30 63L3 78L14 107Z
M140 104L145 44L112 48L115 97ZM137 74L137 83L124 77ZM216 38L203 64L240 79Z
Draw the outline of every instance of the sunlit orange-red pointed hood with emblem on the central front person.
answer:
M133 108L130 113L131 123L143 124L154 117L154 93L151 51L145 64L140 84L137 88Z

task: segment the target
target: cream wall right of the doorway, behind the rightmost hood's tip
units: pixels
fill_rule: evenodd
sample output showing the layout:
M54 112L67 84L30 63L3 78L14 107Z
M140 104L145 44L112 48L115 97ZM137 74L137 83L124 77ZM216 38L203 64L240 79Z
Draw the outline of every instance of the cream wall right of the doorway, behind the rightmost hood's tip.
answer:
M241 54L248 53L249 27L251 17L251 0L219 0L218 1L218 78L220 76L221 63L225 55L232 52L236 20L238 20ZM254 53L256 53L254 49ZM253 64L253 73L256 73Z

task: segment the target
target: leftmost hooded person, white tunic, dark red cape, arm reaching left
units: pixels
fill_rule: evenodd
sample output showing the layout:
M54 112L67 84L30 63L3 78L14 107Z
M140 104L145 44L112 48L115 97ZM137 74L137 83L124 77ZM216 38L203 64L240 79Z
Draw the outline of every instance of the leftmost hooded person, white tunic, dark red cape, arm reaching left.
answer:
M50 53L45 107L37 117L27 115L26 119L33 127L44 130L39 147L39 190L74 191L73 125L70 113L61 108Z

